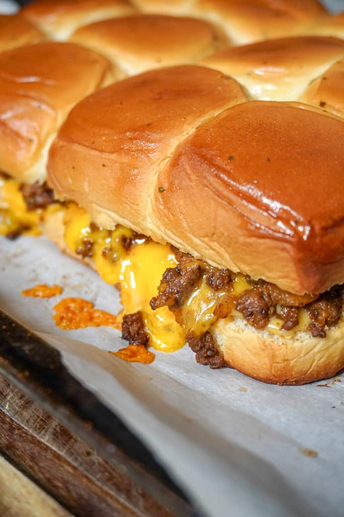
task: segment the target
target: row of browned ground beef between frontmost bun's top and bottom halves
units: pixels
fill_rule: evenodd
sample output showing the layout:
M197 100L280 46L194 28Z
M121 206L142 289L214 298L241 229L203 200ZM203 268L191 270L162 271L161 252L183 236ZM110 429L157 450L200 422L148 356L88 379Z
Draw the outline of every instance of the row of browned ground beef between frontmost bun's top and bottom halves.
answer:
M215 308L214 315L218 318L228 316L235 307L245 320L257 329L264 329L269 324L270 318L276 315L284 322L282 329L291 330L299 324L299 308L303 307L310 318L307 330L313 337L319 338L326 336L325 327L336 325L340 319L344 298L343 285L334 286L329 292L318 297L309 294L298 296L283 291L265 280L254 281L245 277L252 287L235 296L233 294L235 273L228 269L211 267L205 262L194 260L187 253L172 249L178 265L163 273L158 287L159 293L150 303L153 310L163 306L169 307L178 323L183 324L181 316L183 304L195 286L199 285L202 277L205 277L206 284L215 292L227 291ZM277 305L280 307L278 311Z

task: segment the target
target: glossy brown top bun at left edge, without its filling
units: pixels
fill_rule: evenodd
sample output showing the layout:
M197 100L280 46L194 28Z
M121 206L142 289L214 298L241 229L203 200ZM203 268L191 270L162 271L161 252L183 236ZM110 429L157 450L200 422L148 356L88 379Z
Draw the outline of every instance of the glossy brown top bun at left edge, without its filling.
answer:
M0 54L0 170L44 181L48 147L73 105L113 79L112 65L74 43Z

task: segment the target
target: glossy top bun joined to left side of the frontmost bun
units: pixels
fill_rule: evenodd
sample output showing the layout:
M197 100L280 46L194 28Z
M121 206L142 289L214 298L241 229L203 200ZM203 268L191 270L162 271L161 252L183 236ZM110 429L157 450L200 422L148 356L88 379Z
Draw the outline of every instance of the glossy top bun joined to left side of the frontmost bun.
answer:
M150 223L156 176L198 125L245 100L236 81L197 66L115 83L72 110L51 147L48 180L102 226L121 222L169 240Z

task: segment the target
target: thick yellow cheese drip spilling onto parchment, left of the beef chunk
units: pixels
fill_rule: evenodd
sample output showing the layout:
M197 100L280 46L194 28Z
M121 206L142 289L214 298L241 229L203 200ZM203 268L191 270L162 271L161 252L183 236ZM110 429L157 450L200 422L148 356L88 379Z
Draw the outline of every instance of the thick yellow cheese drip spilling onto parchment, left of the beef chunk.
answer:
M99 275L109 284L121 284L123 311L119 320L124 314L141 311L154 348L163 352L181 348L185 344L185 333L174 315L167 307L153 311L149 305L163 272L177 265L171 247L142 238L126 251L122 239L132 237L131 230L121 225L113 231L96 227L87 212L76 205L67 209L64 222L68 248L76 253L85 241L93 241L91 260Z

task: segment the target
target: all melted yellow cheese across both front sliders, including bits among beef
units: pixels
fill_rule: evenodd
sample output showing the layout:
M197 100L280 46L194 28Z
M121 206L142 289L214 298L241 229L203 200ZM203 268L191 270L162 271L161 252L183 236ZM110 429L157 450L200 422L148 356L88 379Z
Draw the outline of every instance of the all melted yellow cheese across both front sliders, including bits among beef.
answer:
M235 309L234 300L243 291L252 286L241 273L233 280L233 288L228 291L214 291L207 285L205 276L193 289L182 308L183 327L176 323L174 315L167 307L153 311L150 300L156 296L163 273L169 267L177 265L176 257L170 245L161 245L150 239L135 236L134 245L125 250L123 239L133 237L133 231L118 225L114 230L105 230L92 224L87 212L71 203L64 215L64 240L73 253L80 253L87 242L92 242L92 256L95 269L110 284L121 285L121 311L118 322L124 314L141 311L145 330L150 344L163 352L174 352L185 344L185 335L192 330L201 336L218 319L215 309L222 301L233 297L233 309L229 319L243 315ZM277 306L277 315L280 311ZM304 309L299 309L299 325L293 329L282 330L283 320L278 316L271 318L264 330L285 338L291 338L296 332L306 330L309 316Z

